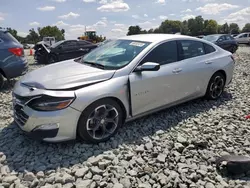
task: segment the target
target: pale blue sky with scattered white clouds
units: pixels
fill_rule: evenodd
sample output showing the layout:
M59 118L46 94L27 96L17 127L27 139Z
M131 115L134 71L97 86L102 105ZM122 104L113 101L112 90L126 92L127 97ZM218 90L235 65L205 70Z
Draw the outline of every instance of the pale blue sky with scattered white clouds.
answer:
M0 26L26 35L30 28L57 25L66 38L84 28L108 38L127 33L128 26L155 28L165 19L184 20L197 15L219 23L250 22L250 0L0 0Z

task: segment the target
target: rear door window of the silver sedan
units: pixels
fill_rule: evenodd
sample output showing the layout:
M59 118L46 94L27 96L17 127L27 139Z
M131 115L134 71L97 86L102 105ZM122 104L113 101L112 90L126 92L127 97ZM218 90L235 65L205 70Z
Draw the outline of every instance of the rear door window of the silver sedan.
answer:
M178 41L178 50L180 60L198 57L206 54L203 43L199 41Z

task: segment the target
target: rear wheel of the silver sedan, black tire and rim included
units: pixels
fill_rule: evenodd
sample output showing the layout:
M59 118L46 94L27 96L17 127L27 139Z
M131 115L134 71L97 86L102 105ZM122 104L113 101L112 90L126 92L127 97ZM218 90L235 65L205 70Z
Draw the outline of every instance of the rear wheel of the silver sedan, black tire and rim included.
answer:
M220 98L225 89L226 78L221 72L216 72L210 79L205 98L216 100Z

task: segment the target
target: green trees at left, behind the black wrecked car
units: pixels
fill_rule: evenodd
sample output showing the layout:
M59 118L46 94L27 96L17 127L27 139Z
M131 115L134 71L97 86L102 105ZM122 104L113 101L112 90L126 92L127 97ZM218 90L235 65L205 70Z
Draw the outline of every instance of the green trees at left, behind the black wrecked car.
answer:
M1 29L1 27L0 27ZM64 40L64 29L59 29L57 26L46 26L46 27L38 27L37 32L34 28L29 30L29 34L26 37L21 37L18 35L17 30L7 27L6 30L9 31L20 43L22 44L36 44L41 41L43 37L55 37L57 41Z

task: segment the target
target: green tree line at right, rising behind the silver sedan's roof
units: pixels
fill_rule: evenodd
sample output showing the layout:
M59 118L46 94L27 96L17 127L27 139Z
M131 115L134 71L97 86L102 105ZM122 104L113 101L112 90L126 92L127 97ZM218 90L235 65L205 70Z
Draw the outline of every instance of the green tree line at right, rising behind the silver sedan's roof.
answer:
M239 34L250 32L250 23L247 23L242 30L237 23L225 23L219 25L216 20L204 20L202 16L196 16L188 20L165 20L155 29L143 30L139 25L130 26L127 35L145 33L181 33L182 35L199 36L209 34Z

